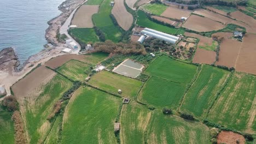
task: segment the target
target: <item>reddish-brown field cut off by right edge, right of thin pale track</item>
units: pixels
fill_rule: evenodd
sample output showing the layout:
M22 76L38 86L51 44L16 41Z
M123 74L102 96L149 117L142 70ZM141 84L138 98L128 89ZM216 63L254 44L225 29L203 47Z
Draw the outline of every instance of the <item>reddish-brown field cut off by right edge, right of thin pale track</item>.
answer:
M236 70L256 75L256 35L246 34L236 61Z

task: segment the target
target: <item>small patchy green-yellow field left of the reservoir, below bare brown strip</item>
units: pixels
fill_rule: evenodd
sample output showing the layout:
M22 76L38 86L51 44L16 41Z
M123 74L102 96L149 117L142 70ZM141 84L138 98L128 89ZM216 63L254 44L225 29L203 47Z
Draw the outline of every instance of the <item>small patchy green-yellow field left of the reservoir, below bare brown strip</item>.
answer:
M87 77L84 71L88 68L88 64L71 59L58 68L57 71L74 81L83 81Z

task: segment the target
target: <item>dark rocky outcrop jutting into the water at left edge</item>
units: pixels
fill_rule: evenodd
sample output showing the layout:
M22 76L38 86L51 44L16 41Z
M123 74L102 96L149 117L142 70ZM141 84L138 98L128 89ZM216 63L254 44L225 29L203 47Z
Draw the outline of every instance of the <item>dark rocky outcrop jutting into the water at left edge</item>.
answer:
M13 71L20 65L18 56L16 56L14 49L8 47L0 51L0 70L1 71Z

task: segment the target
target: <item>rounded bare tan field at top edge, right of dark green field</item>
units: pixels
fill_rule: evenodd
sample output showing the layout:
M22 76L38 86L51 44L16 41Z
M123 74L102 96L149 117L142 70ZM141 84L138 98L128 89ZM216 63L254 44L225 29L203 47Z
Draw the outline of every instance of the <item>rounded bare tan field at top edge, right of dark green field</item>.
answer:
M124 0L115 0L112 14L117 19L117 22L121 28L128 31L132 25L133 17L125 8Z

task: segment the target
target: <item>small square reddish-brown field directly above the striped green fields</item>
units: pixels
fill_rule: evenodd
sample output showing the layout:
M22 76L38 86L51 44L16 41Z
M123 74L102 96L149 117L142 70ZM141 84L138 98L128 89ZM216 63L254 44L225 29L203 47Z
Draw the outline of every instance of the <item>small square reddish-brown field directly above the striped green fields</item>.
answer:
M200 48L196 49L193 63L212 64L215 62L216 53L214 51L207 51Z

